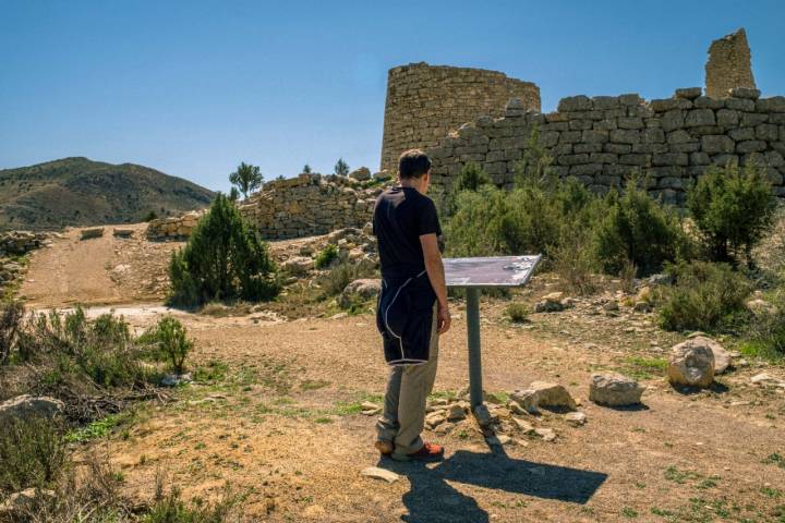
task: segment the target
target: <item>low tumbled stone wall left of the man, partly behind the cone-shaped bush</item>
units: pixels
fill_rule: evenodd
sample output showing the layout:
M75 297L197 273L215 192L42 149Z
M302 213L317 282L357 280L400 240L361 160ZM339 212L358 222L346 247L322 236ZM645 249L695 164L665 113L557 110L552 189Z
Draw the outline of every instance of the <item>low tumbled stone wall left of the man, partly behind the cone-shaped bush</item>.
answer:
M268 240L326 234L336 229L363 227L371 220L381 187L363 188L355 180L321 174L300 174L276 180L239 204L240 212ZM150 221L152 239L184 239L204 211Z

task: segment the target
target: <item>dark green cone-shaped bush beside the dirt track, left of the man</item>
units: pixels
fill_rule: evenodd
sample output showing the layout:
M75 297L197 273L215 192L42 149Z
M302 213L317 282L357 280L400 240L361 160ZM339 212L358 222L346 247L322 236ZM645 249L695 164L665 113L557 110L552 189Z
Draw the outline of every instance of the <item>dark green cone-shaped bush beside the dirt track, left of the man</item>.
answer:
M267 244L222 194L196 224L188 244L172 253L169 277L169 302L176 305L269 300L280 291Z

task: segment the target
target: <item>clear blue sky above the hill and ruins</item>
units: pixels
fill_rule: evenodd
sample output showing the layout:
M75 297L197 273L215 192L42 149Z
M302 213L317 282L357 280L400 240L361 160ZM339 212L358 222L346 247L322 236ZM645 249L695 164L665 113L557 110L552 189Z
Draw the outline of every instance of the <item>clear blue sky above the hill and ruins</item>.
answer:
M0 169L67 156L227 190L338 157L378 167L389 68L498 70L564 96L703 85L712 39L747 28L785 95L785 2L0 0Z

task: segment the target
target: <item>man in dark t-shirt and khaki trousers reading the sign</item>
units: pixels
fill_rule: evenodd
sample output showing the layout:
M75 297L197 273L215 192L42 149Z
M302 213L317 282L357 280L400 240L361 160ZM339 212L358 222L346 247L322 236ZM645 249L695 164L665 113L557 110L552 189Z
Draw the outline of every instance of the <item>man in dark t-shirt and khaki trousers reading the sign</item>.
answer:
M449 329L442 234L436 206L425 196L431 160L407 150L398 163L399 184L376 199L373 230L378 241L382 292L376 326L391 366L375 447L398 461L433 460L444 449L420 437L425 402L433 389L438 337Z

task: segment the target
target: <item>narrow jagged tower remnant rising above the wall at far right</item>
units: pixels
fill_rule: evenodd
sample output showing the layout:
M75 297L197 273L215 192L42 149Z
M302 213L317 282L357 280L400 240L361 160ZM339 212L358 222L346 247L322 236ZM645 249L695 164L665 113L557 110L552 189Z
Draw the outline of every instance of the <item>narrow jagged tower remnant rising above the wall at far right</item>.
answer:
M728 90L734 87L756 88L749 44L744 27L712 41L705 71L705 90L706 96L711 98L727 98Z

